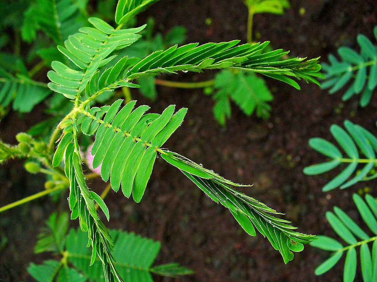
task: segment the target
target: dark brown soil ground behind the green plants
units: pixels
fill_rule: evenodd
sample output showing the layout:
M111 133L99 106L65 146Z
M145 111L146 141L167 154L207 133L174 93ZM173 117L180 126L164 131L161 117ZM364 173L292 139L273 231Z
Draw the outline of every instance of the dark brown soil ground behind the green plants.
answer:
M357 49L358 33L373 38L377 9L372 0L294 0L291 7L282 16L256 15L254 31L260 34L258 40L270 40L274 47L291 50L293 56L321 56L326 61L327 55L335 53L340 45ZM299 14L301 7L306 10L304 15ZM155 17L157 26L163 30L176 24L185 26L188 42L246 40L247 9L240 0L164 0L143 13L140 23L148 16ZM211 18L210 26L205 24L206 18ZM180 74L169 79L205 80L212 76ZM334 205L360 223L351 196L366 185L373 186L372 182L322 193L322 186L336 171L313 177L304 175L302 169L324 161L310 149L308 139L318 136L333 141L329 133L333 123L342 125L349 119L376 133L377 100L373 98L362 109L357 97L343 105L341 91L329 96L316 85L300 83L302 90L297 91L284 83L267 81L274 92L271 118L268 121L248 118L233 107L226 128L216 123L213 101L200 89L158 87L159 98L155 103L136 92L133 97L140 104L150 105L151 112L161 112L170 104L188 107L185 122L165 146L235 182L254 183L244 192L285 212L285 218L299 226L300 232L334 236L325 219L325 212ZM38 116L36 120L34 115L10 114L2 121L2 138L15 143L15 133L42 118ZM28 175L21 165L22 162L9 161L1 167L0 206L41 190L38 176ZM90 187L101 191L104 184L93 182ZM374 188L371 194L377 196ZM136 204L119 193L110 193L106 203L110 209L108 227L135 231L161 241L156 264L175 261L196 272L177 279L156 277L156 281L342 281L344 258L333 271L316 277L314 269L329 253L306 246L285 265L267 239L260 234L248 236L230 212L211 202L161 158L156 161L141 203ZM5 235L8 243L1 250L0 279L31 280L27 265L43 259L32 252L38 229L57 207L68 209L66 202L55 203L46 197L1 214L0 237ZM362 280L360 273L356 280Z

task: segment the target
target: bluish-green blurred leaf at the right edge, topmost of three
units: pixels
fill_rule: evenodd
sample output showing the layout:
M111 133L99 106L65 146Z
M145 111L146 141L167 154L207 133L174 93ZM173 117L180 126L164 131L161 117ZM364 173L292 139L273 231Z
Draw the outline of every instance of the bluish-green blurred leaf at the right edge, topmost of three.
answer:
M377 39L377 26L374 27L374 36ZM352 82L348 84L342 100L361 93L360 106L365 107L377 86L377 46L362 34L357 35L357 43L360 54L351 48L340 47L340 61L334 55L329 55L330 64L322 65L326 77L322 88L330 88L329 93L333 94Z

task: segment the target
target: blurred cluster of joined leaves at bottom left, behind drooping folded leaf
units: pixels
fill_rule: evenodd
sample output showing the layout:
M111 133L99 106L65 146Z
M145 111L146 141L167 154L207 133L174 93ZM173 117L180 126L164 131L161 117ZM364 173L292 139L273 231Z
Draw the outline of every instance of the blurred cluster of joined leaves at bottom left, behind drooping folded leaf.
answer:
M54 212L46 221L46 227L38 235L35 253L60 254L60 261L46 260L42 264L31 263L29 274L38 282L43 281L104 281L99 259L90 265L91 254L86 247L87 234L70 229L67 213ZM160 243L121 230L109 230L115 248L112 255L116 270L126 282L152 282L151 273L175 277L193 272L177 263L152 266L159 253ZM74 267L70 267L73 265Z

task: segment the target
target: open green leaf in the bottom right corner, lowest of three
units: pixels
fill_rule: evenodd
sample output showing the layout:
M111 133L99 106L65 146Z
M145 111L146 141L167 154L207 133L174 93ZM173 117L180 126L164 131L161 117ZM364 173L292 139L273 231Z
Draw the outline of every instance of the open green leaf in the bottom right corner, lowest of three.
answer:
M328 236L317 236L318 240L311 242L311 246L319 249L332 251L330 258L320 264L315 274L320 275L330 270L346 253L344 262L343 281L352 282L356 277L356 268L361 266L363 281L377 280L377 202L370 196L365 196L365 201L357 194L353 195L356 207L369 227L374 237L363 231L345 212L334 207L334 213L326 212L326 218L334 231L346 243L343 245L339 241ZM371 244L369 244L371 243ZM369 245L368 245L369 244ZM370 246L372 248L370 249ZM357 248L360 247L360 262L357 262Z

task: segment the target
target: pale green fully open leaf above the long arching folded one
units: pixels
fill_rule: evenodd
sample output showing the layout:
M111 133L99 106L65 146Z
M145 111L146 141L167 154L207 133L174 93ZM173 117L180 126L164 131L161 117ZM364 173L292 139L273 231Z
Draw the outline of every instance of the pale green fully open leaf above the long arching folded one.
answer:
M89 80L98 68L106 65L115 55L109 56L114 50L123 49L138 40L141 35L136 33L144 26L132 29L114 29L99 18L89 18L94 27L82 27L79 33L70 35L64 41L64 47L58 50L72 61L80 70L73 70L61 62L52 62L54 71L48 72L52 81L49 88L69 99L80 97Z

